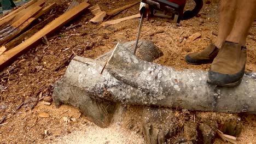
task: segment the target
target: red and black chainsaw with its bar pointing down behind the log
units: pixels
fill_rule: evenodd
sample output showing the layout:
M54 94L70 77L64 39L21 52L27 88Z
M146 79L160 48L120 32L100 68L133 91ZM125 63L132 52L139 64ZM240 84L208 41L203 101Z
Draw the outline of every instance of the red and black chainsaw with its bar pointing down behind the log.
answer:
M203 6L203 0L194 0L195 8L193 10L186 10L184 7L187 0L141 0L139 5L139 12L141 13L141 21L139 22L139 29L133 54L135 54L143 19L155 19L160 21L179 23L181 20L188 20L196 16Z

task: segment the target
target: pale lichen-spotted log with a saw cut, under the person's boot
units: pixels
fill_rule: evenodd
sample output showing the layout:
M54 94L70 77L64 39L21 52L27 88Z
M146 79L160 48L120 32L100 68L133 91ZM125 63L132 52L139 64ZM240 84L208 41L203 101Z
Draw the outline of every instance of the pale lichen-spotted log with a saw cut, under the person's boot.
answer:
M141 61L121 44L115 47L101 74L104 64L89 58L74 57L61 81L77 87L92 98L124 104L256 113L256 73L245 74L237 87L217 87L206 82L207 71L177 71ZM53 97L56 104L61 103L57 93Z

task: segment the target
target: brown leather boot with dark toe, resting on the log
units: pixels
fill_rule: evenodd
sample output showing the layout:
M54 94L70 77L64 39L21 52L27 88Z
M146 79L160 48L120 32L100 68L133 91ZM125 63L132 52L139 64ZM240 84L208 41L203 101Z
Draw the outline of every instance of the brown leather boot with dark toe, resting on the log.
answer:
M235 87L245 74L246 47L225 41L208 71L207 82L217 86Z

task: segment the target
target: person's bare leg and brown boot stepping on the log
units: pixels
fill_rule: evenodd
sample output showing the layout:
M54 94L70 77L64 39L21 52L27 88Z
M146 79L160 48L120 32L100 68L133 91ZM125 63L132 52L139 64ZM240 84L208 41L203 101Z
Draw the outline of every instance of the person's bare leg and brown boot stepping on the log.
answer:
M245 73L246 37L254 20L256 0L237 1L234 26L222 44L208 72L208 82L218 86L237 86Z

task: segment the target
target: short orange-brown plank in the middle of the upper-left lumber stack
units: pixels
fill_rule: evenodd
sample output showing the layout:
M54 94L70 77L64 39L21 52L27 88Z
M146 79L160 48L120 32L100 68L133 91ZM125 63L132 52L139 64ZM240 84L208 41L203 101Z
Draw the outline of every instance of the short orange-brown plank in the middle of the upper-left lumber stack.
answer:
M30 11L28 11L24 16L22 16L18 21L11 24L11 26L18 28L20 25L22 25L22 23L30 19L30 17L33 17L34 15L36 15L41 9L42 7L39 7L39 6L34 7Z

